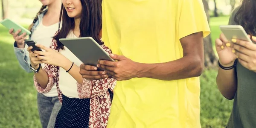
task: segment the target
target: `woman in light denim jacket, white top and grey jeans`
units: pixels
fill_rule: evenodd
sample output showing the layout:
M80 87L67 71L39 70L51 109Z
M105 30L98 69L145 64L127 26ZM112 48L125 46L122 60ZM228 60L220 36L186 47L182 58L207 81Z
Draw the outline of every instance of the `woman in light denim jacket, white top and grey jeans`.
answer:
M41 7L41 10L38 12L37 16L33 20L33 23L29 26L29 30L31 31L31 35L29 35L29 39L35 40L37 43L48 43L48 46L51 44L51 41L44 41L43 38L47 38L50 40L54 36L54 33L58 30L58 17L52 17L52 19L49 16L54 15L58 16L60 13L61 8L61 0L44 0L41 1L43 3L43 6ZM48 8L47 8L48 6ZM46 9L47 8L47 9ZM52 12L50 12L52 11ZM49 12L49 13L47 13ZM58 13L58 14L56 14ZM43 17L45 15L48 15L49 20L54 20L56 22L49 22L49 20L46 18L44 20L47 23L52 23L47 26L43 25ZM47 29L48 27L48 29ZM19 48L17 44L17 40L26 39L26 37L20 38L17 36L18 32L12 32L13 30L10 30L10 34L13 35L15 38L14 43L14 51L15 55L17 57L17 60L20 63L20 66L25 70L27 73L32 73L32 70L30 67L30 59L29 59L29 52L27 51L27 45L25 45L24 48ZM50 32L51 31L51 32ZM45 34L43 34L43 32ZM53 33L52 35L49 35L50 33ZM38 36L41 34L42 36ZM48 35L47 37L45 37ZM42 38L41 38L42 37ZM42 41L38 42L38 38L41 38ZM52 39L51 39L52 40ZM23 44L22 44L23 45ZM33 78L31 78L32 80ZM61 103L58 100L58 93L57 93L57 87L53 87L52 90L50 90L49 93L42 94L38 93L37 95L37 101L38 101L38 112L41 120L42 128L54 128L55 125L55 119L58 114L58 111L61 108Z

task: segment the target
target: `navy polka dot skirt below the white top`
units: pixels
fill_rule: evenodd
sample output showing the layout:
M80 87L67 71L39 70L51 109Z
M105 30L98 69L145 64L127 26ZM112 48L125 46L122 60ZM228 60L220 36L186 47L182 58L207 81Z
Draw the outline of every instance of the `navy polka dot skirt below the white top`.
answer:
M54 128L88 128L90 99L68 98L64 95L62 99Z

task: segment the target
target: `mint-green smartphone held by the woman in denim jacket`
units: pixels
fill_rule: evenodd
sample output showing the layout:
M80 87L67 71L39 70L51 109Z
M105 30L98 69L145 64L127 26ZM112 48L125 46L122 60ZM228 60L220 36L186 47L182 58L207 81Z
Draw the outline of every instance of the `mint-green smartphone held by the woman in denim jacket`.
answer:
M19 24L13 22L10 19L4 19L0 23L3 24L3 26L5 26L9 30L13 29L13 32L16 32L18 29L21 29L21 32L18 35L21 35L24 32L26 32L26 35L31 34L31 32L29 30L25 29L23 26L20 26Z

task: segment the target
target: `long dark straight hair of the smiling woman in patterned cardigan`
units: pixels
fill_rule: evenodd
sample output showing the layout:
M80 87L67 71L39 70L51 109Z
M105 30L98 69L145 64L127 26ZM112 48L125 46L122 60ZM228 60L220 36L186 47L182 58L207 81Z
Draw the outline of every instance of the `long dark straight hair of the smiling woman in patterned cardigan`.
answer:
M79 25L79 37L92 37L100 45L100 31L102 29L102 0L81 0L82 12ZM60 29L60 25L62 26ZM67 15L64 5L61 4L61 13L59 19L58 34L53 38L57 41L57 49L64 49L64 45L59 41L60 38L66 38L70 30L75 27L75 20Z

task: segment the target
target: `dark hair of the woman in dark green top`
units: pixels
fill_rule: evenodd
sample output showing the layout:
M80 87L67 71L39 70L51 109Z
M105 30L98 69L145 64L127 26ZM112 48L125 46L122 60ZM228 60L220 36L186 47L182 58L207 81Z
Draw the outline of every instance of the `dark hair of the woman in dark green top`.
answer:
M234 20L243 26L249 35L256 35L256 0L242 0Z

